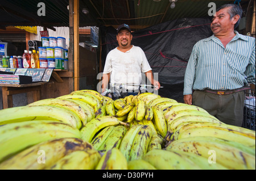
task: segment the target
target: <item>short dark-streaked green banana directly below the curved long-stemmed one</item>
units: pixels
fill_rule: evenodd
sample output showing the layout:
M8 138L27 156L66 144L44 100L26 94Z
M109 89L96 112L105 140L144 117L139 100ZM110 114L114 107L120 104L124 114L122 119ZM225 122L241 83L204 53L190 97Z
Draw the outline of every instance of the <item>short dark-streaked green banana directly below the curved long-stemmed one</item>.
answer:
M109 134L113 131L115 127L114 126L109 126L106 128L103 128L100 133L98 133L90 142L93 145L93 148L96 150L99 150L100 146L104 144L106 138L108 138Z

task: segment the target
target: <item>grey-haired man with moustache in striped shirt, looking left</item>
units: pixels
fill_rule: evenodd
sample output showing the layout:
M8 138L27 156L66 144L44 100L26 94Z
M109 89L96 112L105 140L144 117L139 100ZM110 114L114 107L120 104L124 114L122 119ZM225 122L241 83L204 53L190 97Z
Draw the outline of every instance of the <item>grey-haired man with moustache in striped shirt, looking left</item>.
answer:
M234 31L242 9L221 6L210 27L213 35L193 47L184 77L184 103L204 108L220 121L242 126L244 86L255 85L255 38Z

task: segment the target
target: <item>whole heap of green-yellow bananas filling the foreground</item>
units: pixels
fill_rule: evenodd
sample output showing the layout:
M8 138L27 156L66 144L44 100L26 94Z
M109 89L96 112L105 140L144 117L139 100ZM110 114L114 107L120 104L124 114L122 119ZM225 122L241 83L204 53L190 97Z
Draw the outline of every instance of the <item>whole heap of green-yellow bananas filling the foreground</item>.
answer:
M255 169L255 131L145 92L93 90L0 111L0 169Z

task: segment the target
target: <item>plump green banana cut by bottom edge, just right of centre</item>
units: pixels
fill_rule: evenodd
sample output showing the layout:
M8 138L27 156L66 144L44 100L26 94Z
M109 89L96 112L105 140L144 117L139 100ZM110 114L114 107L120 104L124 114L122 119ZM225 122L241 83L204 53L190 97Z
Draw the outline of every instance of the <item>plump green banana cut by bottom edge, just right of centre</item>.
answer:
M152 149L143 159L158 170L201 170L196 163L172 150Z

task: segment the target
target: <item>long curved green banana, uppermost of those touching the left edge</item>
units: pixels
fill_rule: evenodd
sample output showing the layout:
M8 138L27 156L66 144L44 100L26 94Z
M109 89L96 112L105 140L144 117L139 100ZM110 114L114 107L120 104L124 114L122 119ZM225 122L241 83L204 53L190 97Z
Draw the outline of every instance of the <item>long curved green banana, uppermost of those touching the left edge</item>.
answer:
M0 110L0 125L28 120L59 120L80 129L81 120L76 113L56 106L19 106Z

